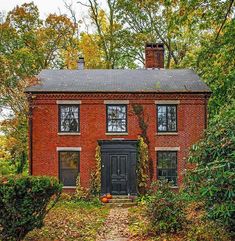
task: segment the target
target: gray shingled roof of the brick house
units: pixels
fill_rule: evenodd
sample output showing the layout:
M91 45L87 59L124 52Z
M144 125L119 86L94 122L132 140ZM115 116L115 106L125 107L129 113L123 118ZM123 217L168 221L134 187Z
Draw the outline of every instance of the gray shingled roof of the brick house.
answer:
M210 92L188 69L43 70L26 92Z

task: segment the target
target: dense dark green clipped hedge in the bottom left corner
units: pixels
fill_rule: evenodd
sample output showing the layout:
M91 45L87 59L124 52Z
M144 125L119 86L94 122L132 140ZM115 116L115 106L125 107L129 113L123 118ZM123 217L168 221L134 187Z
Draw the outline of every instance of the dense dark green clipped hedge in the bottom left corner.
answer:
M55 205L62 185L52 177L9 176L0 179L0 240L22 240ZM53 202L49 204L52 196Z

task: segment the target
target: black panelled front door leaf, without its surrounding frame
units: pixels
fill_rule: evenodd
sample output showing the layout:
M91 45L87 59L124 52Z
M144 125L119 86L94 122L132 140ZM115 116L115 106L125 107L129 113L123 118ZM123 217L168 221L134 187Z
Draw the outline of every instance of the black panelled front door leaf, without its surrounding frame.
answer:
M110 155L111 193L127 194L127 155Z

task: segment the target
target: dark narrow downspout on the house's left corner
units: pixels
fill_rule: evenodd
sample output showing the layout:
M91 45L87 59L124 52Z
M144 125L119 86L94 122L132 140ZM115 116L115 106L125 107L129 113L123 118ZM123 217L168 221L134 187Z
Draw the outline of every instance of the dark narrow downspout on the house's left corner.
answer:
M28 126L29 126L29 174L33 175L33 106L32 106L32 95L28 95L29 103L29 115L28 115Z

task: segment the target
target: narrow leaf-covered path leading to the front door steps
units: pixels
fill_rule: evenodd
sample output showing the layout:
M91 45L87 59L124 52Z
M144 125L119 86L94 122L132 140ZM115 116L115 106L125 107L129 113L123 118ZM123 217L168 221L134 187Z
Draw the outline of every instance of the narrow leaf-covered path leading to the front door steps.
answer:
M129 240L128 208L112 208L98 233L96 241L127 240Z

